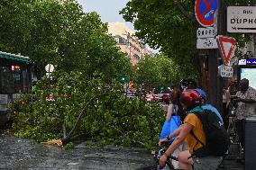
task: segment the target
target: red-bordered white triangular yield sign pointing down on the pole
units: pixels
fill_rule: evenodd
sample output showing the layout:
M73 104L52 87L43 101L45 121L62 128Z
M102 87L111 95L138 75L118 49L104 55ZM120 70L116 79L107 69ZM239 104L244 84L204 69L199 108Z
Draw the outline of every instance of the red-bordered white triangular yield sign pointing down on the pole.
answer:
M233 37L225 37L223 35L217 36L217 42L222 54L225 65L230 64L230 58L233 57L236 40Z

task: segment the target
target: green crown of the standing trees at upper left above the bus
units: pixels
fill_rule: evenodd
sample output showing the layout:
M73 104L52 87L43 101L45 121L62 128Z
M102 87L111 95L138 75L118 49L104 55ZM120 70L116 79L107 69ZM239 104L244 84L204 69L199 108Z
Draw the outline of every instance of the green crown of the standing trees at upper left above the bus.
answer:
M106 23L75 0L1 1L0 9L0 49L29 56L41 70L51 63L67 72L105 73L106 79L132 70Z

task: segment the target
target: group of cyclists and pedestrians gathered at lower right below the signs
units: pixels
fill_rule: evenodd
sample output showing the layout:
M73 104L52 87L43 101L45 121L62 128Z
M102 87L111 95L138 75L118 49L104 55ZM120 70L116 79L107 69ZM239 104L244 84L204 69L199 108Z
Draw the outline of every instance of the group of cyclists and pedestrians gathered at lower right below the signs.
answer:
M179 89L171 92L166 121L159 141L159 145L163 141L169 141L170 146L160 157L160 167L165 166L170 155L176 155L176 168L190 170L194 166L195 170L215 170L228 150L226 130L229 126L229 108L233 106L236 108L236 130L244 148L244 120L255 114L256 90L249 86L249 81L245 78L239 84L231 81L223 90L223 112L218 112L213 105L207 103L206 98L206 92L197 88L196 83L190 80L181 81ZM206 122L207 118L202 119L206 115L212 116L211 119L215 120L221 129L218 132L221 135L217 138L223 138L220 139L223 148L211 146L214 144L211 143L208 133L215 132L210 128L206 130L206 126L215 122ZM212 148L216 150L213 151ZM217 148L221 150L217 152Z

